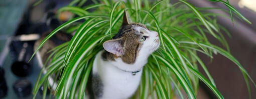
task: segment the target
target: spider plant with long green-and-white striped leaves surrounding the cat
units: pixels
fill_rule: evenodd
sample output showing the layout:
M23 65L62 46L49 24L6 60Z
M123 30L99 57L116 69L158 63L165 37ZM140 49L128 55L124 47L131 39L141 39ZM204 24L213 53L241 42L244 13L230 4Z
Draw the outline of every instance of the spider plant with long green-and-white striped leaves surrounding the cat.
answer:
M249 93L249 80L256 86L247 71L229 53L223 35L230 34L221 32L227 30L216 22L216 16L220 14L206 11L224 9L198 8L185 0L173 4L169 0L92 1L94 4L82 6L86 0L73 0L68 6L58 10L70 11L74 17L54 29L36 51L59 30L75 31L75 34L69 42L52 49L49 57L52 61L44 68L48 70L45 74L42 74L43 69L40 72L33 90L35 95L39 87L44 85L45 98L46 88L53 87L49 85L48 77L61 73L60 77L55 77L58 84L54 95L57 98L84 98L93 58L102 50L102 43L117 33L124 10L129 13L133 22L146 24L151 30L158 31L161 41L160 48L149 57L143 69L141 84L133 98L172 98L175 95L179 95L180 98L196 98L199 80L203 81L218 98L223 98L206 65L198 57L198 52L210 58L216 53L224 55L241 70ZM230 12L231 19L234 14L250 23L228 1L209 1L225 4L229 8L227 12ZM210 43L206 34L218 39L225 49ZM199 66L203 68L206 76L199 72Z

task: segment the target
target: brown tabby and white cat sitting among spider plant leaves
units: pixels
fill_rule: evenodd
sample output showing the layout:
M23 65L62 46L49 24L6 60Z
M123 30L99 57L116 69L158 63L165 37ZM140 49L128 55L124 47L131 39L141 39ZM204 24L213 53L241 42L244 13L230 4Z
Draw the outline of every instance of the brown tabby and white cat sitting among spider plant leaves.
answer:
M126 11L113 39L103 43L92 66L94 98L129 98L139 86L143 66L160 46L158 32L129 23Z

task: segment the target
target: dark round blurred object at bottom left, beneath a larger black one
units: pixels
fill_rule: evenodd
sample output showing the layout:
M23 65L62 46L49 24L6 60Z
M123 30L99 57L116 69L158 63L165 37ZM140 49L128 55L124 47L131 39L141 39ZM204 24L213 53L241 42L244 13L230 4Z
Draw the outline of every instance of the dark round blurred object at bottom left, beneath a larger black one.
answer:
M32 92L32 84L27 79L18 79L15 81L13 89L19 97L26 97Z

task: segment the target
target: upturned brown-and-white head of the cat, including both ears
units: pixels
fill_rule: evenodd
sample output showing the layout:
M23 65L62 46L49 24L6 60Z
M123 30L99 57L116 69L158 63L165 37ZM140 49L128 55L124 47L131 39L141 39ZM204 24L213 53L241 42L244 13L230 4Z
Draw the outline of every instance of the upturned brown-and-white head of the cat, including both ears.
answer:
M133 64L138 58L147 59L160 45L158 32L152 31L140 23L129 23L126 11L122 25L112 40L103 43L106 51L124 63Z

